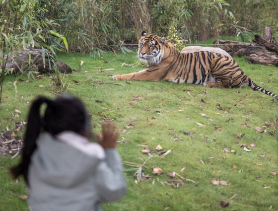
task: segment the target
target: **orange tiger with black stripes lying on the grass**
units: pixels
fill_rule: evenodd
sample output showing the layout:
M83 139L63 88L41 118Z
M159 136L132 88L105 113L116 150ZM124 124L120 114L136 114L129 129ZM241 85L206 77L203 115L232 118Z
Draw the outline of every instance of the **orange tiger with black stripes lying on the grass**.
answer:
M173 81L202 84L207 87L234 88L248 85L278 99L274 93L254 83L233 59L215 52L180 53L165 36L141 33L138 47L145 70L114 75L115 80Z

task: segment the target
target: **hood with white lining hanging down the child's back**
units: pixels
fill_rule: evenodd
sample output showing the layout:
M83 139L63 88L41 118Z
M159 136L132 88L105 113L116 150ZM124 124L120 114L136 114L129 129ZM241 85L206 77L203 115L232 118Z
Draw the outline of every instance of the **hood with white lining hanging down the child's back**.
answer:
M87 175L94 174L103 159L105 152L98 143L73 132L63 132L56 137L44 132L39 136L37 149L31 157L32 176L29 180L57 188L78 186Z

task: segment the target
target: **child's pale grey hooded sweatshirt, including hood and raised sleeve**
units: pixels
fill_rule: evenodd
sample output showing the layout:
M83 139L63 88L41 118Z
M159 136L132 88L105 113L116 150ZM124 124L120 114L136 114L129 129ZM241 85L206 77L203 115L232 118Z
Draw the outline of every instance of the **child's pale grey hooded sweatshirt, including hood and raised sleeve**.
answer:
M117 150L73 132L39 136L28 181L31 211L101 211L100 203L120 200L126 192Z

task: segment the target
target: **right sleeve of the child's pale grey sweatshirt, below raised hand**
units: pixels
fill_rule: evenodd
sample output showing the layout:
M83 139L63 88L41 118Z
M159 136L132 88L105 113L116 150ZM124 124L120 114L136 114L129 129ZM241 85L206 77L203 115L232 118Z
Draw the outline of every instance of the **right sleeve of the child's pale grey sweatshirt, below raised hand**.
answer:
M120 200L125 196L127 185L122 160L116 149L106 149L106 158L97 169L96 184L101 202Z

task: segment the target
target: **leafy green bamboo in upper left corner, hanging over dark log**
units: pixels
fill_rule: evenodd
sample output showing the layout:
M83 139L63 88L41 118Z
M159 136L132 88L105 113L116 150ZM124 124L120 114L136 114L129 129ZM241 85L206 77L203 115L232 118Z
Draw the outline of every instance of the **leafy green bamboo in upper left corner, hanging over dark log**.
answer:
M40 3L40 0L0 2L0 102L3 78L12 71L6 67L6 63L8 59L13 58L14 52L26 48L42 48L44 65L46 53L50 58L50 69L56 69L55 58L52 55L57 51L69 49L67 39L55 31L59 24L52 19L44 18L50 4Z

